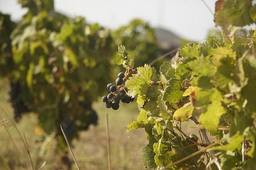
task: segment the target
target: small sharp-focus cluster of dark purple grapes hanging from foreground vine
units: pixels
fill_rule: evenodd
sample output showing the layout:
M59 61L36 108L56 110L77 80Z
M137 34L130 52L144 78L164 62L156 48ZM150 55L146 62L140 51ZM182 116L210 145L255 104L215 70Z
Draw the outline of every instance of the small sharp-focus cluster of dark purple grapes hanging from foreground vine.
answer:
M117 74L116 85L117 87L109 83L107 89L110 91L109 94L102 97L102 102L106 103L106 108L112 108L114 110L119 109L119 103L130 103L134 101L134 98L126 94L126 88L122 86L124 83L125 74L120 72Z

